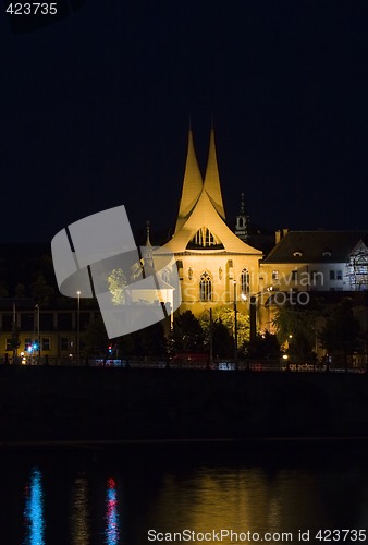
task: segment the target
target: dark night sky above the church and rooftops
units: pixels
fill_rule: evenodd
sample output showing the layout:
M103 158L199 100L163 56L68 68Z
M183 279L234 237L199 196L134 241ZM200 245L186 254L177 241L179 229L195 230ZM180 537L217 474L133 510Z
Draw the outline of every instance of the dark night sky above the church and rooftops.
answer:
M229 223L244 192L265 228L368 229L366 0L87 0L21 31L3 9L0 242L121 204L173 226L212 112Z

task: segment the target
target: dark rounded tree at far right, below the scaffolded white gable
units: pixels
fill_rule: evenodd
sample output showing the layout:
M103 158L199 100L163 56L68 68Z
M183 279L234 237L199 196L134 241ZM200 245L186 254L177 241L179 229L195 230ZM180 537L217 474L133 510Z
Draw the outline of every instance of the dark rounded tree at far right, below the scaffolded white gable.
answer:
M319 332L319 341L328 352L342 353L346 365L347 355L354 354L361 343L361 330L353 314L352 302L342 301L329 307L324 326Z

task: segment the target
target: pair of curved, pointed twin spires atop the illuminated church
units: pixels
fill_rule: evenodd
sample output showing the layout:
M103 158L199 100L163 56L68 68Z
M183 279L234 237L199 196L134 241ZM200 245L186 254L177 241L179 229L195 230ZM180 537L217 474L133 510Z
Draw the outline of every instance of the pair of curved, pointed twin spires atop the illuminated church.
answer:
M223 208L219 168L216 155L214 130L211 128L209 152L207 159L207 168L205 181L200 173L196 152L194 148L192 128L188 133L188 149L186 155L186 165L183 182L182 198L179 207L175 232L181 229L189 215L195 208L195 205L200 197L200 194L206 192L222 219L225 219Z

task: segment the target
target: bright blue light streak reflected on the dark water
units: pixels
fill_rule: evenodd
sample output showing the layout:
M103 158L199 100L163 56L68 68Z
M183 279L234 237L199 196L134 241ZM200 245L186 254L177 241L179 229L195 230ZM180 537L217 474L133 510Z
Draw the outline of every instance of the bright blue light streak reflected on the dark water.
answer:
M25 488L24 519L26 523L26 545L45 545L44 540L44 498L41 473L34 468L30 476L30 485Z

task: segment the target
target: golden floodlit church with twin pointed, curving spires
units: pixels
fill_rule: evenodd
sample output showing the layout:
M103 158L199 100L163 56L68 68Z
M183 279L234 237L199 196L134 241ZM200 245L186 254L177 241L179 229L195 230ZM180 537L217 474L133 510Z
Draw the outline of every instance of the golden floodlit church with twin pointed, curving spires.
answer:
M174 254L182 292L180 312L197 317L219 306L237 302L247 313L249 295L259 290L262 252L241 240L226 225L218 169L214 131L203 177L188 133L187 157L175 230L161 252Z

